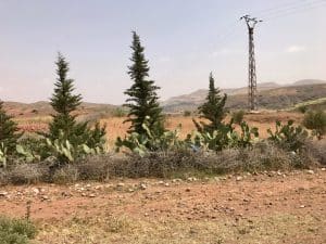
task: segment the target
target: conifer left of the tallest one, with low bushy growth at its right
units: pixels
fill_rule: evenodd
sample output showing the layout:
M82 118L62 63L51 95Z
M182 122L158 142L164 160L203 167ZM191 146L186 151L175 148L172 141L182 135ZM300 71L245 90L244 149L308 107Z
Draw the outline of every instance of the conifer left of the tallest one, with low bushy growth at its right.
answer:
M101 128L98 124L95 129L88 128L88 123L77 123L76 115L73 112L82 103L80 94L73 94L74 80L67 78L70 70L68 63L65 57L59 53L58 61L58 79L54 84L54 93L51 98L51 106L55 111L53 120L49 125L49 133L45 134L50 141L61 139L68 140L73 146L86 144L89 147L102 146L104 144L105 127Z

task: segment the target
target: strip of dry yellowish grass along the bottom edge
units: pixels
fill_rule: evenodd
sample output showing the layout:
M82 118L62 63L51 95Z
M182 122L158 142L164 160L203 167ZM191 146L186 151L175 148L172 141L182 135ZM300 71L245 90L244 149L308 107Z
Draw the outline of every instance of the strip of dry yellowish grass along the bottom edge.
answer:
M323 243L325 220L312 215L273 214L250 219L180 220L143 217L74 218L47 223L36 243L63 244L276 244Z

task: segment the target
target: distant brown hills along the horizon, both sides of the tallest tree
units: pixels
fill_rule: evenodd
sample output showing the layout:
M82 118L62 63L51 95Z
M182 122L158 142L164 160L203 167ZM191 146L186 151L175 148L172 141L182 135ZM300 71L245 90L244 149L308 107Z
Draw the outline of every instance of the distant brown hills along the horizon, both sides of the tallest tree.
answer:
M310 85L306 85L310 84ZM323 80L299 80L293 84L281 86L276 82L260 84L259 106L260 108L280 110L289 108L297 104L311 102L326 98L326 81ZM181 113L184 111L195 111L205 99L208 90L200 89L189 94L171 98L162 102L164 112ZM223 93L228 94L226 106L228 108L247 107L247 88L223 89ZM77 115L82 118L92 119L110 116L121 106L111 104L83 103ZM15 117L47 116L53 113L48 102L39 101L35 103L5 102L4 108Z

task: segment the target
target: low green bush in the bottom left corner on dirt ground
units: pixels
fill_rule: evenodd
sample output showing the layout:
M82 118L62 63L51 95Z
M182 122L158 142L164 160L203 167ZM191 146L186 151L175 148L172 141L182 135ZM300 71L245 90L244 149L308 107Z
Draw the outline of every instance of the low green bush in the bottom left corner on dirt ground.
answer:
M28 244L36 233L36 227L27 220L0 217L1 244Z

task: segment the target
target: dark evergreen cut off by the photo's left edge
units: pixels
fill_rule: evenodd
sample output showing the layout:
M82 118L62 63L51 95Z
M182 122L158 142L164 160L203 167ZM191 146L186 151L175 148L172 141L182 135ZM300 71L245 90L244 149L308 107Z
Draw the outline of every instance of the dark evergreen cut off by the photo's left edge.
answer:
M17 124L5 113L3 102L0 101L0 144L3 144L8 154L15 151L17 140L22 136L17 131Z

